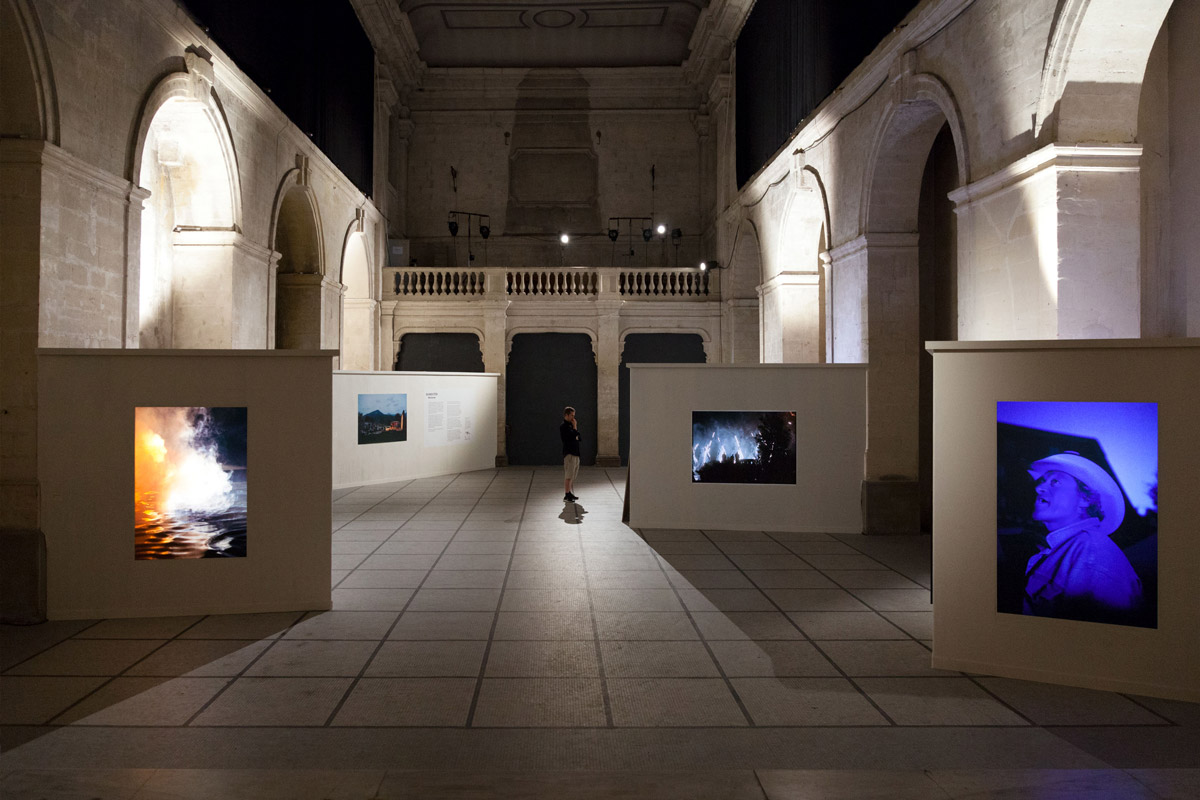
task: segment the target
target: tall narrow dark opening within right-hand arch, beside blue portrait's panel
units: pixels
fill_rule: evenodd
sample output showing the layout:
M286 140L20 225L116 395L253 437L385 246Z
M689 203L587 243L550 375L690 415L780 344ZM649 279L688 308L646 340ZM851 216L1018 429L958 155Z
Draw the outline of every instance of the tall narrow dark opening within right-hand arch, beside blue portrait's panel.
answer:
M954 134L943 125L929 151L920 181L917 228L920 264L920 387L918 435L920 529L934 529L934 356L925 342L948 342L958 336L958 227L954 204L947 197L959 185Z

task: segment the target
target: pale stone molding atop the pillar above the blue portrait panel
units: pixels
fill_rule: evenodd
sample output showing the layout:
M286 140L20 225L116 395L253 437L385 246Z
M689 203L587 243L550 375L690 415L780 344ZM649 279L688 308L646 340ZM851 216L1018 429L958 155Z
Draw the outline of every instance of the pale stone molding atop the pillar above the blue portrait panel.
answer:
M1136 173L1141 169L1140 144L1049 144L1014 161L991 175L949 193L955 212L982 199L1019 187L1038 173L1058 172Z

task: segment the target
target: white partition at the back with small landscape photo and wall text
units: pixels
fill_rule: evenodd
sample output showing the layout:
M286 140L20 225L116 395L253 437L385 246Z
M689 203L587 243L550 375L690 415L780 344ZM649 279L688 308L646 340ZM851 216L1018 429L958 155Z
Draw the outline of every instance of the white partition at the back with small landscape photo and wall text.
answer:
M335 372L334 488L492 469L498 380L480 372ZM360 411L380 411L382 426L370 416L366 425L397 431L360 435Z

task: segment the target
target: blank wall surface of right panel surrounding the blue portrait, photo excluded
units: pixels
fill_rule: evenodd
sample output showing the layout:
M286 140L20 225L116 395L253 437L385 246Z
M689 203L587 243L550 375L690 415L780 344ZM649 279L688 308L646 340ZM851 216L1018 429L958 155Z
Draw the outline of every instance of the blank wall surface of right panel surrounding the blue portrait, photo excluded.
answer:
M1200 341L936 342L934 657L1200 700ZM1157 403L1157 627L997 610L997 402Z

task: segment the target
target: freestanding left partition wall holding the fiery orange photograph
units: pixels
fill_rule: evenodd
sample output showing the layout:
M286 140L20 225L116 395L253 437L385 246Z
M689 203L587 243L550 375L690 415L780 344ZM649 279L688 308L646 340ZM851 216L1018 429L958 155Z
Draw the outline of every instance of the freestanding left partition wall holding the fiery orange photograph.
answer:
M49 618L329 608L336 355L38 350ZM230 410L241 420L229 447L238 456L214 451L204 461L198 420ZM169 431L180 419L186 434ZM146 507L140 470L148 461L172 483L215 474L227 491L238 485L236 513L196 492L172 511ZM174 489L160 482L154 494ZM196 511L205 503L224 512Z

